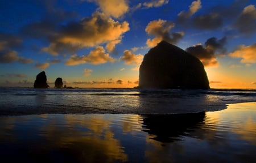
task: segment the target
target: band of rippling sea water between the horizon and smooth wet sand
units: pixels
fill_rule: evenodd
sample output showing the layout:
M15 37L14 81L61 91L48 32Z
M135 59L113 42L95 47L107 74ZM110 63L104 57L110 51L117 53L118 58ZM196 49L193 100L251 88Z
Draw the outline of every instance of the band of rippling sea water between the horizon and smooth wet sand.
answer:
M227 104L256 101L256 91L1 88L0 97L0 115L176 114L221 110Z

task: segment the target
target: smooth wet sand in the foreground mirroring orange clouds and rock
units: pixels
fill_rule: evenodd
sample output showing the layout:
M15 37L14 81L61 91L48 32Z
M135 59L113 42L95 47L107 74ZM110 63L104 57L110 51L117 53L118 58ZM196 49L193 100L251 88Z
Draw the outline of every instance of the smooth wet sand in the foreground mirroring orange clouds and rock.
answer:
M1 162L254 162L256 102L191 114L0 117Z

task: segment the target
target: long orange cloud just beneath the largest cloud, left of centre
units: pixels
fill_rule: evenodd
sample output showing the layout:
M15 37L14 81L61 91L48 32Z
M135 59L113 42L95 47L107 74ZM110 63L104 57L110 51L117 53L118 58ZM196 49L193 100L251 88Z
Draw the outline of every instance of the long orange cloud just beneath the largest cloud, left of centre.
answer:
M77 54L71 55L65 62L65 65L74 66L84 63L100 65L106 62L115 62L115 59L110 57L108 53L105 53L105 49L102 46L97 46L96 49L90 51L89 55L82 55L81 57Z

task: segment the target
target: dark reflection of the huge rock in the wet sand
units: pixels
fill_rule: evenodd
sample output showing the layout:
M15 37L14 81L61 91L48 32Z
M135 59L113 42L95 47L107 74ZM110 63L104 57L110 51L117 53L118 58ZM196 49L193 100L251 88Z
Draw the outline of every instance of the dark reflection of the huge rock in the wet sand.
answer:
M155 135L154 140L171 142L189 135L205 119L205 112L169 115L144 115L142 131Z

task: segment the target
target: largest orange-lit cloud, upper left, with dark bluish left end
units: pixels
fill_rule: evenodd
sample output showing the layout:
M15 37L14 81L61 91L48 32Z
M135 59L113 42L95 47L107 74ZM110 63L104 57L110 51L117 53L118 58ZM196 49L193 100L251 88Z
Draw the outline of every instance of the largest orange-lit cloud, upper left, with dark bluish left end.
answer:
M46 37L49 46L42 48L42 52L55 56L76 53L82 48L99 44L107 44L109 52L112 52L114 46L122 40L123 33L130 30L129 23L119 23L100 12L94 12L91 17L79 22L48 24L47 21L32 23L24 27L23 31L31 31L28 35L30 37Z

